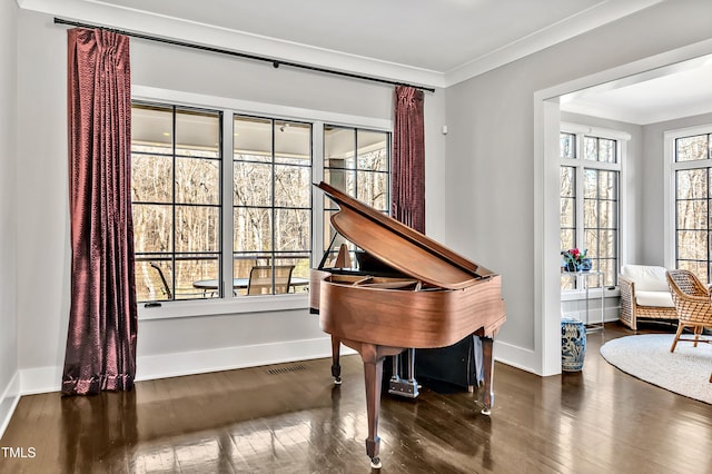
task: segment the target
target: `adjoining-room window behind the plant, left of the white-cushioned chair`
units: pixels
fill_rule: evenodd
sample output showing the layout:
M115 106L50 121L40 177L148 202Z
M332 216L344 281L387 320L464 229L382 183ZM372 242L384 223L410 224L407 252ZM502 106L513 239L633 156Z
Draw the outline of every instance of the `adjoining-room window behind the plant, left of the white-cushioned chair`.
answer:
M605 275L605 282L592 279L592 287L617 284L622 149L621 140L603 134L561 132L561 248L587 250L592 268ZM574 289L576 284L572 278L561 280L562 289Z

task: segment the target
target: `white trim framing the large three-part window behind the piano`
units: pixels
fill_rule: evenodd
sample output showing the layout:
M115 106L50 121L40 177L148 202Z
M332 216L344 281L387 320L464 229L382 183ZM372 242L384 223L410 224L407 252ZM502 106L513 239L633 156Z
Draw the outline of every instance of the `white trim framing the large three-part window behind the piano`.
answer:
M333 111L305 109L298 107L280 106L276 103L255 102L217 96L186 92L170 89L159 89L148 86L132 85L131 99L147 102L162 102L177 106L198 107L202 109L220 110L225 113L222 120L222 146L224 150L233 149L233 124L228 118L233 113L269 117L284 120L295 120L310 122L313 127L313 156L312 180L318 182L324 176L324 124L366 128L379 131L393 131L393 120L374 117L352 116ZM229 115L229 116L228 116ZM230 155L231 156L231 155ZM229 176L231 176L231 159L229 161ZM224 169L228 166L224 162ZM224 187L225 188L225 187ZM231 189L222 190L222 203L230 203ZM322 258L324 248L322 229L324 218L323 199L313 199L312 203L312 229L315 235L312 238L312 255L315 261ZM222 241L233 241L231 226L224 226ZM224 258L225 260L225 258ZM226 267L229 263L224 261L222 275L231 275ZM225 288L231 287L231 278L224 282ZM170 319L182 317L216 316L244 313L283 312L294 309L306 309L309 306L308 293L294 295L255 296L250 298L216 298L210 300L185 300L185 302L159 302L160 306L145 307L138 305L139 320Z

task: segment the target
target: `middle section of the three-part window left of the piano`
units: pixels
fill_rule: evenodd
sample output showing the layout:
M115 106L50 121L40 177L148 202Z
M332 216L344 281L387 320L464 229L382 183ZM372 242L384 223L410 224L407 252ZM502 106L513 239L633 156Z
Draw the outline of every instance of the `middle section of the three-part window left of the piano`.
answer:
M235 116L234 137L234 278L249 280L256 266L271 267L275 276L278 267L289 266L291 280L305 283L312 256L312 126ZM264 293L278 290L273 282Z

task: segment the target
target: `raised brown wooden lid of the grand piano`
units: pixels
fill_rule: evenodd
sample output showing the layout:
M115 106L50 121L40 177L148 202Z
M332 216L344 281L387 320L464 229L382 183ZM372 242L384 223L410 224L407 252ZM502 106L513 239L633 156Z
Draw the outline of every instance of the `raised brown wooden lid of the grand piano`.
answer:
M339 206L340 211L332 216L339 234L405 275L448 289L465 288L494 275L324 181L315 186Z

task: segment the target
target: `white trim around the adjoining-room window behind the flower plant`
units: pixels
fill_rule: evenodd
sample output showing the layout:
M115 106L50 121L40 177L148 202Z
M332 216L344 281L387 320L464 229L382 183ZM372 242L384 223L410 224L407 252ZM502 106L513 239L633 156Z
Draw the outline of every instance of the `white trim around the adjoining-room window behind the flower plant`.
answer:
M581 136L589 137L597 137L604 139L611 139L616 141L616 154L617 154L617 162L607 164L607 162L599 162L599 161L587 161L582 158L571 159L571 158L558 158L558 166L571 166L571 167L583 167L583 168L595 168L603 170L612 170L619 172L619 264L624 261L625 256L625 247L624 244L626 240L624 238L625 223L626 223L626 213L625 213L625 179L624 170L625 170L625 157L627 156L627 142L631 140L631 134L614 130L610 128L602 127L591 127L581 124L572 124L562 121L560 126L560 132L564 134L573 134L577 137L576 139L576 157L582 156L583 141L578 139ZM572 162L575 162L572 164ZM583 182L581 179L576 179L576 196L583 196ZM578 210L578 205L576 205L576 210ZM583 214L576 213L576 229L583 228ZM583 278L583 277L582 277ZM585 288L583 288L583 282L578 279L576 283L575 289L563 289L561 290L561 300L562 302L573 302L573 300L583 300L586 295ZM601 288L591 288L589 289L590 297L600 297L602 289ZM603 292L605 292L605 297L616 297L620 296L621 292L617 286L609 287L604 286Z

